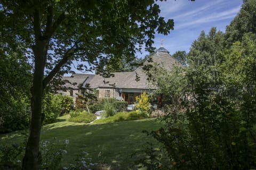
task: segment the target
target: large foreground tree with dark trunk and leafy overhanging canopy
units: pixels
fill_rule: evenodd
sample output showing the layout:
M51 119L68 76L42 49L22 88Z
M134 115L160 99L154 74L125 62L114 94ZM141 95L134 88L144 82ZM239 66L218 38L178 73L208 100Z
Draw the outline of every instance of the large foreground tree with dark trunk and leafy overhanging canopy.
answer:
M173 20L165 21L159 13L153 0L1 1L1 49L10 53L23 43L20 51L34 62L31 124L22 169L39 168L42 98L51 80L70 72L73 61L83 62L78 69L97 67L106 75L105 66L112 58L134 56L142 44L152 52L155 31L167 35L173 29Z

